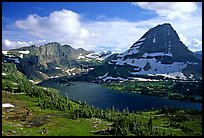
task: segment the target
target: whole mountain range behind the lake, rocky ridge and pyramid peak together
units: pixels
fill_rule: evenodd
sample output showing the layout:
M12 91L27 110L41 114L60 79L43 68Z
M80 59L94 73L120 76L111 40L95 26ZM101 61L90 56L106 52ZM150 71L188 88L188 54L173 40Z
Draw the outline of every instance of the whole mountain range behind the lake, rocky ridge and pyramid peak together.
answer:
M193 53L168 23L147 31L127 51L100 54L57 42L3 51L3 62L14 62L29 79L75 76L107 82L138 78L202 79L202 52ZM73 79L73 78L72 78Z

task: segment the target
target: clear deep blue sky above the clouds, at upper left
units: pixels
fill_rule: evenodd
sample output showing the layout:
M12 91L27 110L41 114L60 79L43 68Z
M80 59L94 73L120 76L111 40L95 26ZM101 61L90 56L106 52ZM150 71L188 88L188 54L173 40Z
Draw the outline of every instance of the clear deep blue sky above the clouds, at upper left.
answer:
M97 20L99 15L138 21L156 16L145 14L142 8L135 8L131 2L3 2L3 16L12 19L26 18L29 14L48 16L51 12L68 9L84 14L88 20ZM114 7L114 9L113 9Z

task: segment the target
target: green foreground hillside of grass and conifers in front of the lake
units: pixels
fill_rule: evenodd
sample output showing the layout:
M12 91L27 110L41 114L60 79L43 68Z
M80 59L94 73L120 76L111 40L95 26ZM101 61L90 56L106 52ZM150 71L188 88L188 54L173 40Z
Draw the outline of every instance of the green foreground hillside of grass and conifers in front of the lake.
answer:
M201 136L202 111L170 109L122 112L70 101L55 89L35 86L12 64L3 64L2 135ZM15 75L14 75L15 74Z

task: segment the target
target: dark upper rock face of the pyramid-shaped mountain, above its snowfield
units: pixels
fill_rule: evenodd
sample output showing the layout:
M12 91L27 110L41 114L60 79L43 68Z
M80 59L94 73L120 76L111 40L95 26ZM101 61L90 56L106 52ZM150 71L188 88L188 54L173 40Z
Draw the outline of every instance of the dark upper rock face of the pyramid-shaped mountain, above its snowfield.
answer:
M172 62L197 61L193 52L189 51L188 48L180 41L176 31L168 23L158 25L150 29L130 47L130 49L133 50L136 48L139 52L127 54L124 59L130 58L133 55L136 58L141 58L145 53L162 52L164 55L166 54L165 56L171 54ZM165 61L163 62L165 63Z

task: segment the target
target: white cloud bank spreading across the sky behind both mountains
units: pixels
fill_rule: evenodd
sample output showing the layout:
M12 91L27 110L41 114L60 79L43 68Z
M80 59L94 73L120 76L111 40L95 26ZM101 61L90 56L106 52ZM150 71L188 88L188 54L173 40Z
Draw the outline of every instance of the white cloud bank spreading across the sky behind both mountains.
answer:
M136 5L138 6L138 3ZM168 6L163 8L161 4L146 4L146 6L151 7L151 9L146 9L157 11L156 13L159 16L137 22L130 22L119 18L104 20L105 16L102 21L82 21L80 14L65 9L52 12L49 16L45 17L33 14L24 20L15 22L15 26L20 30L19 32L14 31L11 33L3 30L2 40L4 41L2 44L9 49L9 47L24 46L23 44L29 44L29 41L36 45L47 42L59 42L61 44L69 44L74 48L82 47L86 50L104 49L106 51L124 52L150 28L158 24L171 23L180 39L190 50L201 50L201 8L196 7L190 10L190 6L187 6L189 12L185 12L186 8L178 9L177 12L175 9L181 8L178 6L180 4L173 5L168 4ZM195 6L195 3L193 5ZM160 9L166 9L166 12L169 12L168 15L163 16L159 12L161 11ZM173 13L171 13L171 10ZM175 13L178 13L178 16L174 15ZM183 14L186 15L185 18L179 18ZM5 42L5 40L8 41Z

